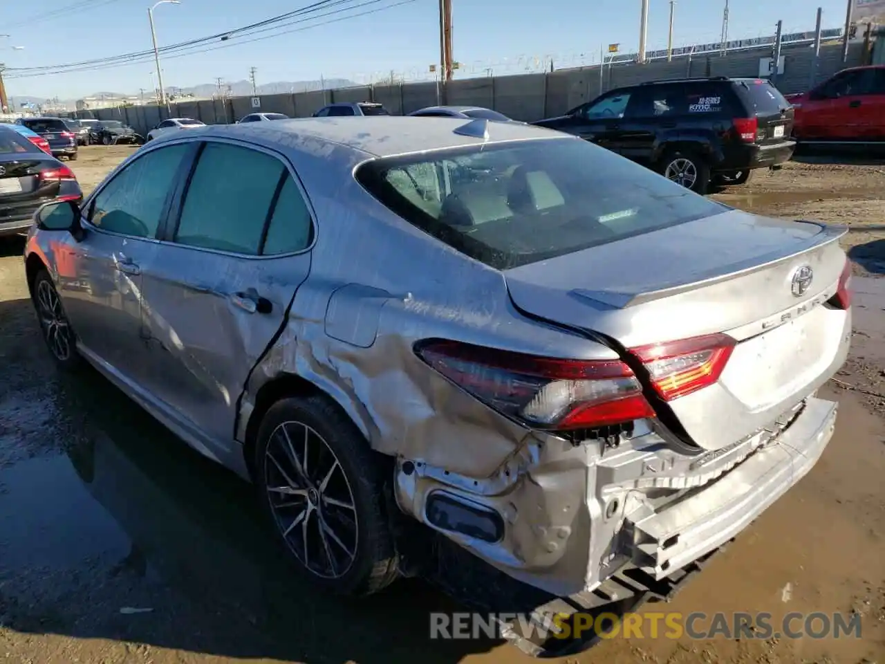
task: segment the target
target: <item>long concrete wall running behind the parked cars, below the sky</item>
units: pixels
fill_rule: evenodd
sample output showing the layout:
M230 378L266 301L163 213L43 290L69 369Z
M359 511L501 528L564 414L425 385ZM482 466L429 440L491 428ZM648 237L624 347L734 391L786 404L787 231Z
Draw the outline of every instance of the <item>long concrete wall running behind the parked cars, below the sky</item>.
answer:
M646 65L632 63L564 69L550 73L529 73L451 81L398 85L355 86L334 90L315 90L296 95L263 95L260 110L285 113L293 118L310 117L332 102L373 100L389 112L399 115L436 104L476 105L493 108L514 120L533 121L560 115L578 104L591 101L606 90L635 85L644 81L703 76L752 77L759 74L760 58L770 58L770 47L730 53L727 56L703 55L652 61ZM784 73L775 81L784 94L802 92L847 66L863 63L863 44L850 44L847 63L842 61L841 44L827 44L820 50L816 71L814 51L808 46L785 47ZM600 76L600 74L602 74ZM77 117L102 120L124 120L145 134L160 120L168 117L192 117L206 124L224 124L239 120L257 111L251 97L227 100L169 104L169 109L143 106L129 109L99 109L78 112Z

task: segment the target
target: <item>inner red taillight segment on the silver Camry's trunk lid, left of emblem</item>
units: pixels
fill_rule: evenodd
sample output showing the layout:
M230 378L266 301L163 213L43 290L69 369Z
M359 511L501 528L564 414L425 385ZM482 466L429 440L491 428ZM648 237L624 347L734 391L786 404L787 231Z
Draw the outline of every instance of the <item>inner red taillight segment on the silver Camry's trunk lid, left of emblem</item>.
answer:
M649 372L651 384L665 401L684 397L719 380L735 339L716 334L630 350Z

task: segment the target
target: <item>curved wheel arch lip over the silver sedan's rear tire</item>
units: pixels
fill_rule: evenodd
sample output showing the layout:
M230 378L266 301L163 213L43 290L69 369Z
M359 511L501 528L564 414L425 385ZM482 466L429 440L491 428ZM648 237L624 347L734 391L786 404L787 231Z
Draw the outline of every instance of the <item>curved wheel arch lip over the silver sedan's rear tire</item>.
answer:
M246 467L249 470L250 477L254 479L255 474L255 448L258 444L258 429L261 428L261 421L264 419L271 406L281 399L292 397L310 397L319 395L327 398L328 401L337 406L342 417L347 417L359 432L366 438L371 447L370 427L366 421L365 413L358 413L358 409L353 405L350 398L346 394L337 390L334 386L320 387L316 382L312 382L304 376L298 374L280 374L279 376L267 381L263 384L252 400L252 410L248 415L246 422L244 439L243 439L243 456L246 461Z

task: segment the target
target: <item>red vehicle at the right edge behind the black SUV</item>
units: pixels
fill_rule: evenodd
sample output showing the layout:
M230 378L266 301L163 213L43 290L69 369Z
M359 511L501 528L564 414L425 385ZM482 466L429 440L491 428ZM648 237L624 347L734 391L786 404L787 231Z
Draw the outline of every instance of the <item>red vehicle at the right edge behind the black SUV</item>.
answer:
M885 66L844 69L787 100L796 109L798 141L885 142Z

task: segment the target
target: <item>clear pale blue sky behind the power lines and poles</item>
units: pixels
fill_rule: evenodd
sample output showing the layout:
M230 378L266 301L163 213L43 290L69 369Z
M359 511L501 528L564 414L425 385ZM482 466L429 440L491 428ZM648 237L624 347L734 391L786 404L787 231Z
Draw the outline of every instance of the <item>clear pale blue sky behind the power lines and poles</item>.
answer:
M0 40L7 67L50 66L150 50L150 0L91 0L61 16L47 12L75 0L4 4ZM289 12L312 0L181 0L154 13L160 46L242 27ZM379 0L354 12L376 10L402 0ZM358 0L354 0L358 2ZM452 0L455 59L468 70L490 67L496 74L519 73L519 58L554 56L557 66L580 64L581 54L597 58L602 43L639 42L640 0ZM94 9L90 5L98 5ZM724 0L677 0L676 45L719 39ZM730 0L729 37L773 35L777 19L784 30L812 30L815 11L824 10L824 27L844 22L845 0ZM368 81L393 70L407 78L425 75L439 59L437 0L412 0L392 9L341 20L242 46L162 61L164 84L188 87L217 77L239 81L258 68L258 82L342 77ZM345 13L315 19L328 21ZM651 0L649 48L666 47L669 3ZM304 27L304 23L294 27ZM292 29L292 27L281 28ZM271 33L265 33L268 35ZM263 36L263 35L262 35ZM243 37L242 39L247 39ZM233 44L234 39L219 42ZM13 45L24 50L12 50ZM29 76L7 81L11 97L71 98L98 90L136 93L152 89L153 61L99 71Z

